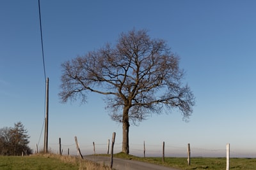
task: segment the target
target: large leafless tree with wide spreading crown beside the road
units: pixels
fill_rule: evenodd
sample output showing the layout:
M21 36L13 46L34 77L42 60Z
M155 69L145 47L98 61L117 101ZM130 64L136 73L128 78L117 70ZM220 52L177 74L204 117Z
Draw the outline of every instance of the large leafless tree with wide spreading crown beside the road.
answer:
M182 83L179 57L163 39L152 39L145 30L123 32L115 46L106 44L61 66L61 101L81 97L86 102L86 92L106 95L111 117L123 124L124 153L129 154L131 121L173 108L187 120L193 111L195 98Z

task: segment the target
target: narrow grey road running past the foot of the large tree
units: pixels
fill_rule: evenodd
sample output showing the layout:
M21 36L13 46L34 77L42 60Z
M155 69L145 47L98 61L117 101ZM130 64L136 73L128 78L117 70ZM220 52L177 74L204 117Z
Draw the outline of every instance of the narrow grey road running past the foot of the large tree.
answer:
M101 156L84 156L84 159L92 160L93 162L97 162L99 164L110 165L109 157L101 157ZM146 162L140 162L136 160L127 160L127 159L118 159L113 158L113 168L116 170L179 170L174 169L172 167L164 167L158 166L156 164L150 164Z

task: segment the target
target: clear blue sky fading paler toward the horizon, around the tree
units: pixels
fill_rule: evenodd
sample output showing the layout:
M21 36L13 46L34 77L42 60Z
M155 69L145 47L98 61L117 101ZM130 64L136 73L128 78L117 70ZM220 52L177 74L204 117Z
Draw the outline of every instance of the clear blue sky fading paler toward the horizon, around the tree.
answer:
M177 110L152 115L130 129L131 154L148 153L225 157L256 156L256 1L41 1L45 69L49 77L49 148L76 150L77 136L84 153L92 141L102 150L116 132L121 151L122 125L108 116L102 97L88 103L61 104L61 63L115 43L120 32L148 29L165 39L180 56L196 97L189 122ZM35 149L44 122L45 80L42 64L38 1L0 1L0 127L21 121ZM39 147L43 147L43 138ZM68 146L70 145L70 146ZM67 152L65 151L64 152ZM99 150L99 149L98 149ZM153 150L157 150L156 152ZM220 151L220 153L218 152ZM157 153L158 154L158 153Z

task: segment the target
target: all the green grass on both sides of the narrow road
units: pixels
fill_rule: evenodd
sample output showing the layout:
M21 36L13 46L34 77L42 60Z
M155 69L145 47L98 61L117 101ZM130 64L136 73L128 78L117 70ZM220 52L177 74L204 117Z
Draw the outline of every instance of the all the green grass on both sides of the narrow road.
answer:
M108 156L109 155L104 155ZM172 158L166 157L164 163L160 157L134 157L132 155L125 155L124 153L117 153L115 157L139 160L143 162L150 162L153 164L159 164L169 167L175 167L182 170L220 170L226 169L225 158L191 158L191 165L188 166L186 158ZM114 162L115 164L115 162ZM104 165L95 164L87 160L81 160L78 157L60 156L54 154L46 155L31 155L28 157L1 157L0 156L0 169L1 170L25 170L25 169L60 169L60 170L82 170L82 169L100 169L108 170L109 167ZM231 158L230 170L250 170L256 169L256 159L244 159L244 158Z

